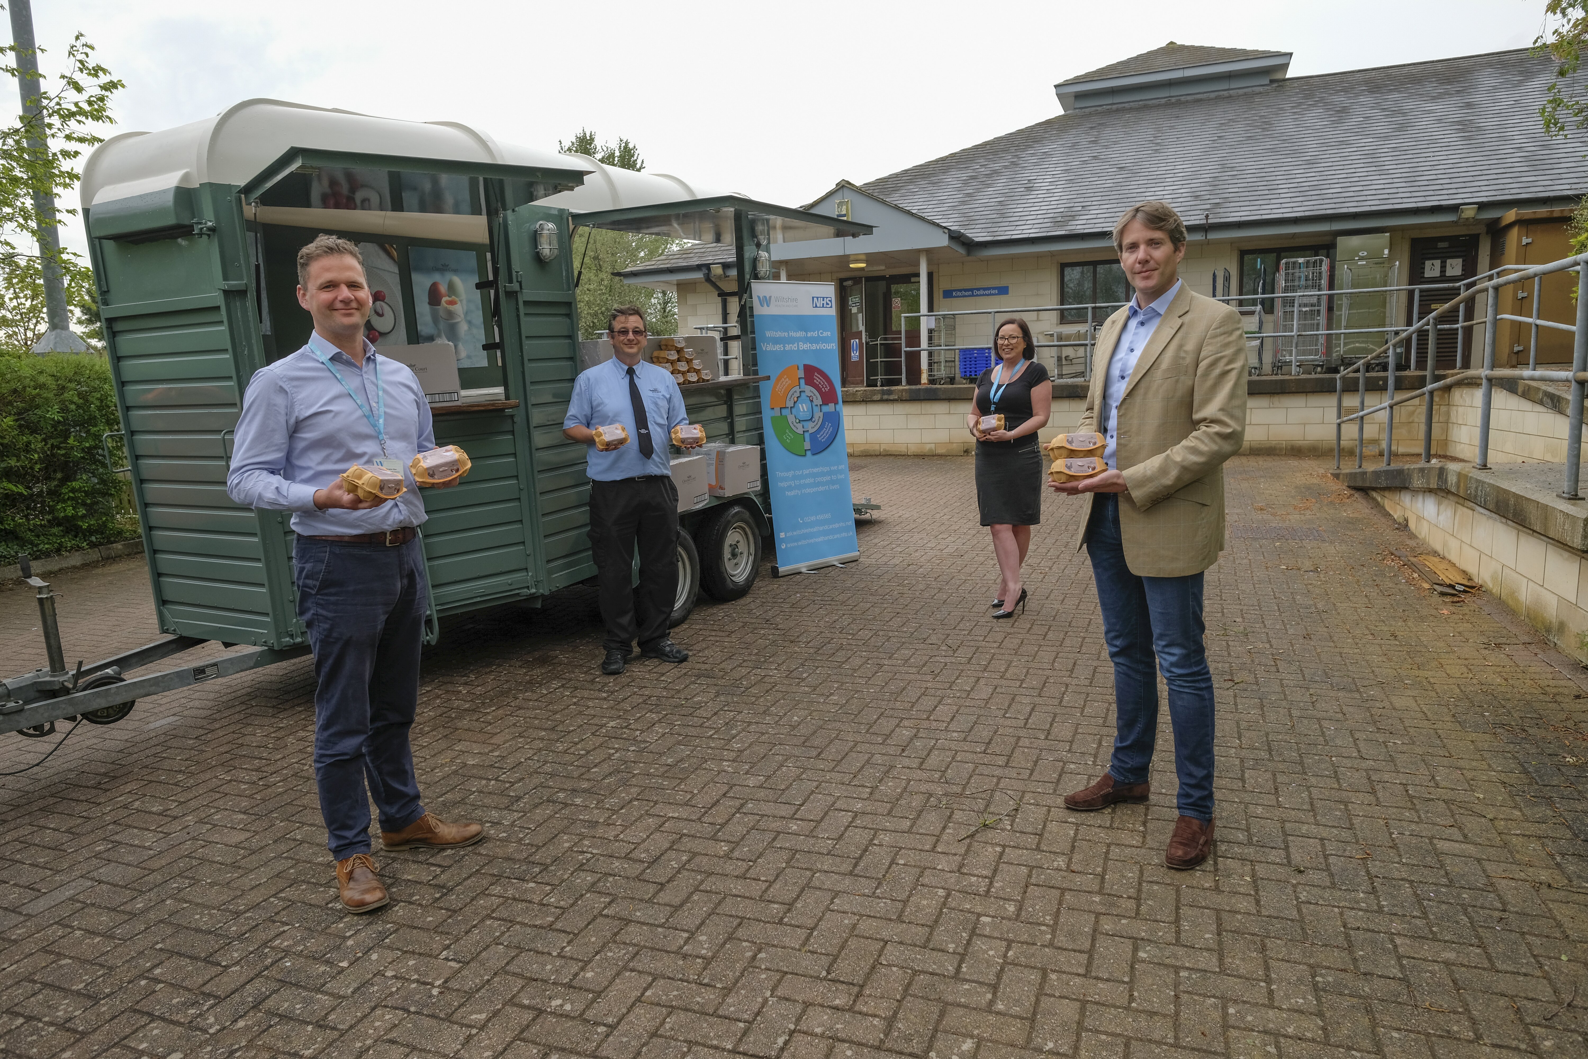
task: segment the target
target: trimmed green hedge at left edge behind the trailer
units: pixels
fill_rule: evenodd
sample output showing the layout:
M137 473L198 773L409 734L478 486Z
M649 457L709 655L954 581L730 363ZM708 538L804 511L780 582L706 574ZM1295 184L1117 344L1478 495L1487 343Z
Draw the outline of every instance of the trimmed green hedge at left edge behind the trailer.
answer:
M0 356L0 564L138 535L127 483L105 465L108 430L121 419L102 357Z

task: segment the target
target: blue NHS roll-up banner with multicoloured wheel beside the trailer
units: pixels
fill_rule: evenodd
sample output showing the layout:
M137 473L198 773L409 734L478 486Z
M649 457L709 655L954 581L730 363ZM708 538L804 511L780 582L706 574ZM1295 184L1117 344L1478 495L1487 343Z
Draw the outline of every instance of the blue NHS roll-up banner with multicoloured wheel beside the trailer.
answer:
M838 394L838 319L831 283L750 284L765 426L775 576L861 557Z

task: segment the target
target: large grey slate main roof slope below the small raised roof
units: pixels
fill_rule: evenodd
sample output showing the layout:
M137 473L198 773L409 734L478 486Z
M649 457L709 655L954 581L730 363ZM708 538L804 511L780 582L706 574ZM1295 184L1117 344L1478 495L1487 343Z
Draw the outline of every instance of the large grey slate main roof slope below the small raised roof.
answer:
M1107 232L1145 198L1234 224L1580 195L1582 143L1539 127L1553 73L1518 49L1094 106L864 189L978 241Z

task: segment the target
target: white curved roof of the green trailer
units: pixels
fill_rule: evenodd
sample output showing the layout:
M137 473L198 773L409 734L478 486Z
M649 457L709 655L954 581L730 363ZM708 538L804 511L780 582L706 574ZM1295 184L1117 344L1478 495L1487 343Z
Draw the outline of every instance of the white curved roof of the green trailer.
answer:
M372 117L260 98L175 129L111 137L83 167L83 205L92 208L165 187L241 186L289 148L583 170L581 187L540 200L575 213L724 194L667 173L634 173L583 154L500 143L461 122Z

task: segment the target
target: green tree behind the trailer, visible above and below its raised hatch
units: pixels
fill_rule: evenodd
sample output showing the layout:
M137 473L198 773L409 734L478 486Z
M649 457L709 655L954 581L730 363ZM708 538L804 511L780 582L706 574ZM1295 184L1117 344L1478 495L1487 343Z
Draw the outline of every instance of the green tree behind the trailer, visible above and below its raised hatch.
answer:
M645 170L645 159L626 137L618 137L616 143L608 144L600 143L592 130L580 129L573 140L567 143L559 140L557 149L565 154L583 154L615 168L635 173ZM578 224L578 216L573 221ZM581 338L594 338L607 330L607 316L616 305L638 305L653 335L672 335L678 330L678 295L624 283L615 273L676 249L683 245L680 240L575 227L572 243L573 267L580 283L576 297Z

